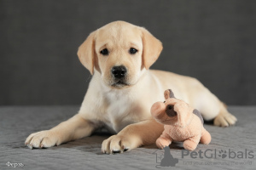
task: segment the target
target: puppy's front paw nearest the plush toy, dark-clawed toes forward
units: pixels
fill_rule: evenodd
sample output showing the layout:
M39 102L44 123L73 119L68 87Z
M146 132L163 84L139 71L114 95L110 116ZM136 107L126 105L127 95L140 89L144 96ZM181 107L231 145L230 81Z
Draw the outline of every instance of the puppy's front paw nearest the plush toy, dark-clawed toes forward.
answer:
M102 153L115 154L123 153L126 150L137 148L136 140L131 141L131 138L113 135L102 142ZM132 143L133 142L133 143Z

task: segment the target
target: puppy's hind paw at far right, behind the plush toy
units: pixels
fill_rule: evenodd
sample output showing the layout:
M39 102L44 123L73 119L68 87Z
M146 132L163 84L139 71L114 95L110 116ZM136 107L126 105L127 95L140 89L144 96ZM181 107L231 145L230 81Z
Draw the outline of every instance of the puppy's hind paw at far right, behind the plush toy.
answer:
M236 124L236 116L230 113L219 113L214 119L214 125L219 127L229 127Z

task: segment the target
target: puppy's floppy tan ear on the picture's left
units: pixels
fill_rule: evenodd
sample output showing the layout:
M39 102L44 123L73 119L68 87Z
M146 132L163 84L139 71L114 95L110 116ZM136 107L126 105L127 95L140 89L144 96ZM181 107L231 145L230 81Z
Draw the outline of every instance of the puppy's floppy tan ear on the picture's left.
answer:
M78 55L80 62L93 75L95 62L95 37L96 32L91 32L89 37L80 45Z

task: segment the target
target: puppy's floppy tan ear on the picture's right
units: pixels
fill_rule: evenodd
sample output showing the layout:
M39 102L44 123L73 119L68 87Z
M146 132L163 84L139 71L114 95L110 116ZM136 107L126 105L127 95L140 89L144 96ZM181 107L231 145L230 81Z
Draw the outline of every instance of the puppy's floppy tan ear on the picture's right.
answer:
M148 70L154 61L158 59L163 46L149 31L142 28L143 32L143 65Z

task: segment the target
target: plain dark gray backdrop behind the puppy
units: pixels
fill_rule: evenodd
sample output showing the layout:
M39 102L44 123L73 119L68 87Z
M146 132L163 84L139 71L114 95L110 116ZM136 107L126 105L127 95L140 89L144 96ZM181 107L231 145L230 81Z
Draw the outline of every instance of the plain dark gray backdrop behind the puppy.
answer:
M256 1L0 1L0 105L79 105L90 82L76 55L125 20L163 42L151 67L198 78L229 105L255 105Z

